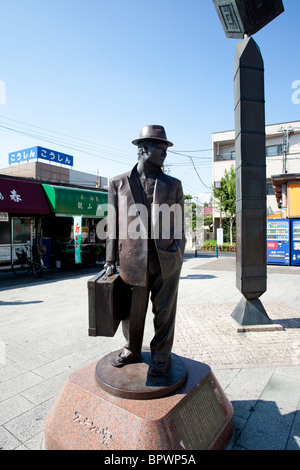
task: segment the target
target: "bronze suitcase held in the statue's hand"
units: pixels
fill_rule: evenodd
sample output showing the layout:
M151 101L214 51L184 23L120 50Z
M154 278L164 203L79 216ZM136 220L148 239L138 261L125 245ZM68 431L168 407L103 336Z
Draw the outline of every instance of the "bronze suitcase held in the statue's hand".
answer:
M115 335L129 313L131 289L119 274L106 277L105 269L88 281L89 336Z

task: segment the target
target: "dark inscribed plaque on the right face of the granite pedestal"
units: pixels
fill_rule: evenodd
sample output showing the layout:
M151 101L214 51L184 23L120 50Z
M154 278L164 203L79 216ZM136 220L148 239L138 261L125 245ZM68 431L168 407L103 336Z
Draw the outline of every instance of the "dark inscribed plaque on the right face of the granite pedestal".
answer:
M187 450L206 449L226 421L208 379L174 409L172 418Z

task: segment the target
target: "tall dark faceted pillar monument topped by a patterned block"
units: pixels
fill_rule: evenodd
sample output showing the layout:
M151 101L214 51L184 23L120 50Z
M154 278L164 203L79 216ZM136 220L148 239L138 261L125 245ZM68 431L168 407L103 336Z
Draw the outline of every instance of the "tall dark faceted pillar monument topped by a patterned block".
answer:
M249 37L284 11L281 0L213 0L225 34L243 38L234 68L236 283L240 325L271 325L259 297L267 289L264 63Z

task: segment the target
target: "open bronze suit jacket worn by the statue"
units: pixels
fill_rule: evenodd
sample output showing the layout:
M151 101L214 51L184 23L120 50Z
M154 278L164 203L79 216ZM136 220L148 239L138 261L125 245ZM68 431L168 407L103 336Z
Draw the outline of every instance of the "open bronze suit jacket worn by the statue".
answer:
M145 286L147 277L148 236L151 234L148 234L143 202L136 166L129 173L110 180L106 261L119 258L120 276L133 286ZM170 211L172 206L175 212ZM180 272L183 262L184 197L181 182L161 170L156 176L151 219L160 268L167 278Z

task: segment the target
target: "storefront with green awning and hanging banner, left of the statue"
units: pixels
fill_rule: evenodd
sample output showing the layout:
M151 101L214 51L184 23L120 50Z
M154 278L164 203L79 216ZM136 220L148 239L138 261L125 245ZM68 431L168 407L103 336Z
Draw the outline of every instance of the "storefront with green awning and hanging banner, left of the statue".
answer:
M42 187L52 213L43 220L43 244L51 245L48 263L68 269L103 261L105 240L98 239L96 227L106 215L107 192L51 184Z

